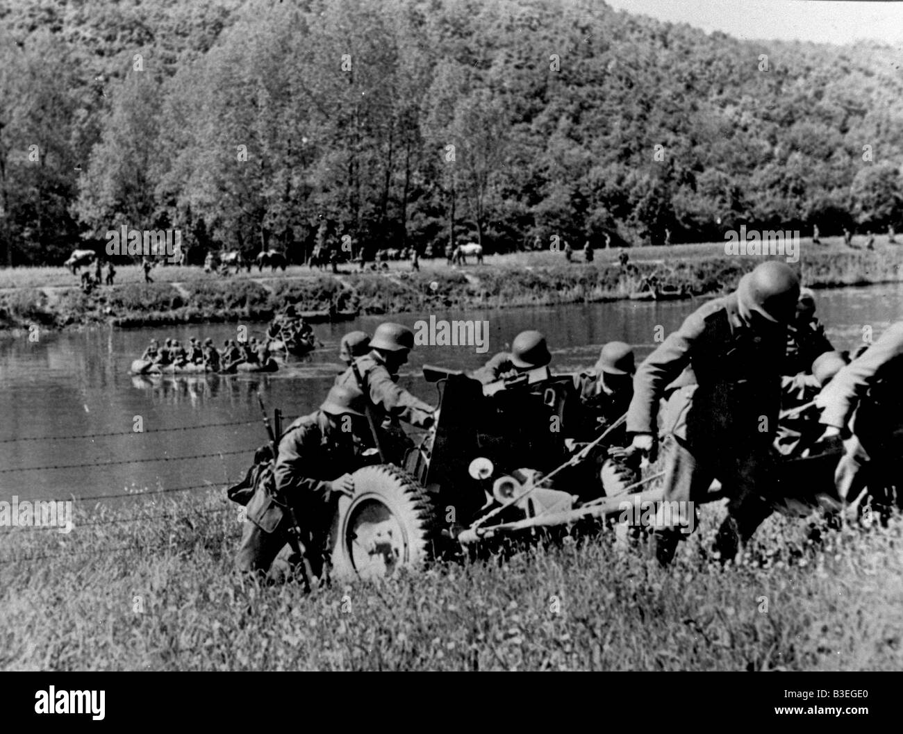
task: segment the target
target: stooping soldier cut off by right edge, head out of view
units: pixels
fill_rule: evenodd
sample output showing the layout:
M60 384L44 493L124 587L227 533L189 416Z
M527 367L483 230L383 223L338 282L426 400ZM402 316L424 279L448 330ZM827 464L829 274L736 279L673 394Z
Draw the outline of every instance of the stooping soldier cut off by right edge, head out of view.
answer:
M843 367L815 398L822 409L822 440L843 440L844 455L834 480L838 496L853 506L863 489L886 504L883 494L901 486L903 469L903 321L888 327L874 344Z

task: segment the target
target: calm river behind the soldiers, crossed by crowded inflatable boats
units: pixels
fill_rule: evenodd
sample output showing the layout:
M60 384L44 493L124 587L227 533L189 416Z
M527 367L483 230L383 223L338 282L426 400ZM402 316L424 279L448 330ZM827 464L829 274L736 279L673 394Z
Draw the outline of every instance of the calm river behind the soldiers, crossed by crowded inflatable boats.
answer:
M817 315L838 348L862 343L863 327L875 337L901 317L903 283L816 293ZM548 308L435 313L437 319L489 322L489 350L418 347L400 384L431 403L427 364L472 369L520 330L545 332L553 367L590 366L610 339L637 345L638 358L654 347L656 327L668 333L698 302L611 302ZM93 329L0 338L0 500L110 497L156 488L221 486L243 476L266 441L257 391L285 415L311 412L340 370L339 340L354 329L372 333L389 317L370 316L314 327L324 347L271 375L143 378L128 374L152 338L187 343L191 336L216 344L236 338L236 324L168 329ZM393 316L408 326L429 314ZM263 324L249 326L260 334ZM231 425L216 425L234 423ZM141 431L136 431L141 428ZM101 435L98 435L101 434ZM209 456L214 454L213 456ZM221 454L221 455L220 455ZM199 459L184 457L201 456ZM79 465L79 466L73 466ZM85 465L85 466L80 466ZM116 497L114 499L113 497ZM127 501L127 500L126 500Z

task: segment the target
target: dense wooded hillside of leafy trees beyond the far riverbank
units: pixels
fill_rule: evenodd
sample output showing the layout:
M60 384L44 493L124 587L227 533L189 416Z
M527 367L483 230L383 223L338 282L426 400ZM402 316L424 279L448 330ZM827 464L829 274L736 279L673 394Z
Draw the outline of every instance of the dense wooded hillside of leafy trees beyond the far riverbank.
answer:
M23 4L0 10L0 257L123 224L181 228L192 262L884 228L899 68L594 0Z

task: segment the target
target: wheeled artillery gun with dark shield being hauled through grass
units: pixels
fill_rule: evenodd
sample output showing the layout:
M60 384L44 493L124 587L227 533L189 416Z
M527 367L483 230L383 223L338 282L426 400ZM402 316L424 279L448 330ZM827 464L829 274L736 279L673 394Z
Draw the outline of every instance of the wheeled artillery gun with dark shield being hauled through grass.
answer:
M424 376L440 394L433 430L401 466L354 472L330 534L334 575L386 576L450 547L624 511L623 495L601 488L609 432L568 437L584 418L573 376L541 367L487 386L441 367Z

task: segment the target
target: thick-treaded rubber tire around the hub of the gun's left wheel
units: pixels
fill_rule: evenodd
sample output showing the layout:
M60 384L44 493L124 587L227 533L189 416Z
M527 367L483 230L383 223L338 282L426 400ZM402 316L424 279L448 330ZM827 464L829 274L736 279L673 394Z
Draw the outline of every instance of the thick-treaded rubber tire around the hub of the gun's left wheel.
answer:
M332 525L332 576L356 579L358 570L351 558L348 534L352 511L368 500L385 505L405 535L405 558L396 568L416 569L428 561L439 527L436 508L424 488L410 474L391 464L362 467L352 475L354 497L342 497Z

